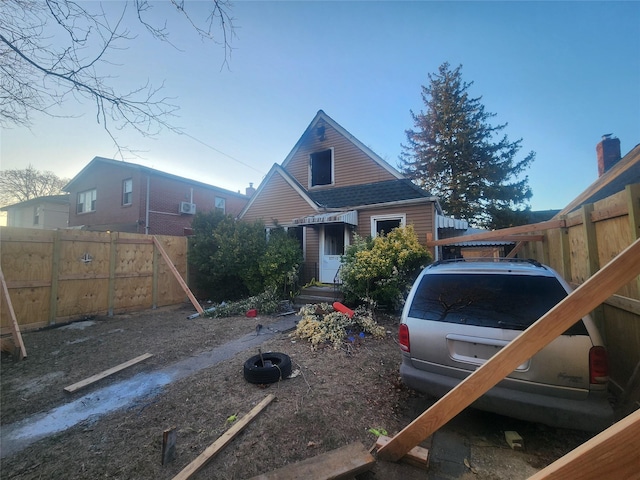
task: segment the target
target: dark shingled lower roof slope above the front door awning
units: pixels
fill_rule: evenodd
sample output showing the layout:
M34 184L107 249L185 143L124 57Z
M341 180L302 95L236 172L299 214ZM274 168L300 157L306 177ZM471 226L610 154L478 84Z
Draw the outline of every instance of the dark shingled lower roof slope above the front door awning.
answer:
M308 193L314 202L326 208L346 208L431 198L429 192L406 179L329 188Z

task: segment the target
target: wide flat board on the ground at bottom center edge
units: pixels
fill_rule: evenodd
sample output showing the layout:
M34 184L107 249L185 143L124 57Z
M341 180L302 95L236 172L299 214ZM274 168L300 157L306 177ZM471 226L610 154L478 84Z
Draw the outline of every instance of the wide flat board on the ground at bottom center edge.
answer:
M360 442L307 458L298 463L286 465L269 473L253 477L251 480L339 480L371 470L376 463Z

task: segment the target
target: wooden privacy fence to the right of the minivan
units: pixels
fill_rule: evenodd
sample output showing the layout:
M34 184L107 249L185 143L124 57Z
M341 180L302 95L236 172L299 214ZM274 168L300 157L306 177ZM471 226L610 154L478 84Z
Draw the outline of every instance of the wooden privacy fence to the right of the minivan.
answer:
M575 287L640 238L640 184L557 219L564 225L542 232L544 240L526 244L521 256L546 263ZM612 385L623 391L640 362L640 277L592 316L607 344Z

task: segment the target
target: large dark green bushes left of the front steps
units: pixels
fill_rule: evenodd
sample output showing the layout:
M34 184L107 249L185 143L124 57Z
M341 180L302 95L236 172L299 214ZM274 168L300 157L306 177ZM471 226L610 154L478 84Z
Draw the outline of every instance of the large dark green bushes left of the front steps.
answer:
M256 296L265 290L281 298L294 294L302 250L284 229L240 222L220 212L199 212L191 224L189 262L196 287L214 302Z

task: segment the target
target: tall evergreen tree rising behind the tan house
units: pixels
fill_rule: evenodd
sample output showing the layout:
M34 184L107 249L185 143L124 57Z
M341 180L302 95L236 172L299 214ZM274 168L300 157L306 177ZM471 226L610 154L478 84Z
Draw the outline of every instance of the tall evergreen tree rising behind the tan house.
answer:
M411 112L414 129L406 130L401 165L407 177L440 199L447 215L473 225L501 228L525 218L531 198L528 177L521 174L535 153L516 160L522 139L506 135L495 140L507 124L488 123L482 97L470 98L472 83L462 80L462 66L443 63L422 86L426 111Z

